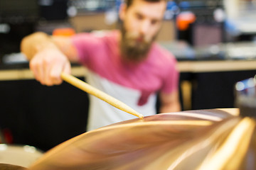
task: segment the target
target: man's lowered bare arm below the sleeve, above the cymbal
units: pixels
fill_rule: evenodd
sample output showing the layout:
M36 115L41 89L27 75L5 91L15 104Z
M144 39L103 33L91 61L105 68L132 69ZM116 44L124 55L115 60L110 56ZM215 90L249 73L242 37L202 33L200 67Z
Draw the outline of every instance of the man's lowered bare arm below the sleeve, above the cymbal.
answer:
M160 98L160 113L170 113L181 111L181 104L179 102L178 91L173 91L171 94L159 94Z

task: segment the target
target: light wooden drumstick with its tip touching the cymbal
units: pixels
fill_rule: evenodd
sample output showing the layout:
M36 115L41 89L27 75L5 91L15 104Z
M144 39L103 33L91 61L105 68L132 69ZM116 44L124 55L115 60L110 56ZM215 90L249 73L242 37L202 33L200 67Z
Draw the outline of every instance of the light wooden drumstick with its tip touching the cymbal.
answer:
M81 81L80 79L73 77L70 74L61 73L61 78L64 81L67 81L69 84L72 84L73 86L77 87L78 89L81 89L82 91L85 91L88 94L92 94L93 96L100 98L102 101L110 103L110 105L112 105L116 108L119 108L120 110L122 110L124 112L135 115L141 119L144 118L144 115L137 113L137 111L134 111L134 109L132 109L129 106L127 106L126 104L122 103L122 101L117 100L117 98L114 98L108 94L105 94L105 92L100 91L99 89L96 89L95 87L91 86L90 84L87 84L84 81Z

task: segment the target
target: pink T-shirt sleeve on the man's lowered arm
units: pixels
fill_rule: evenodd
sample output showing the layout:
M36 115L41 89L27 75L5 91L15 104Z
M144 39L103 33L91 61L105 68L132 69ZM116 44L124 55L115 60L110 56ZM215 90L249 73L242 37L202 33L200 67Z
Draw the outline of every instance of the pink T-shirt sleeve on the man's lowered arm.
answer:
M166 67L166 74L164 75L163 86L161 92L170 94L172 91L178 90L179 72L177 68L177 61L174 56L171 56L171 62Z

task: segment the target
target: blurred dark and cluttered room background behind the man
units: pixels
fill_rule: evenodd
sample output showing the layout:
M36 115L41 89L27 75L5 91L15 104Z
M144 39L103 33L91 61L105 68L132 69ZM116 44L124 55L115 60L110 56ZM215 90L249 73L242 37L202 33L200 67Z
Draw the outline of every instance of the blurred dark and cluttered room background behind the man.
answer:
M21 39L119 28L122 0L0 0L0 142L48 150L85 131L87 94L42 86ZM157 41L178 60L183 111L233 108L234 85L256 74L256 1L168 1ZM67 29L68 28L68 29ZM73 64L86 81L86 70ZM156 106L158 107L158 106Z

